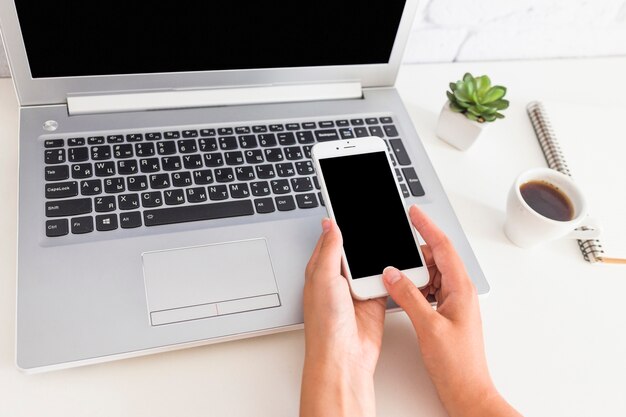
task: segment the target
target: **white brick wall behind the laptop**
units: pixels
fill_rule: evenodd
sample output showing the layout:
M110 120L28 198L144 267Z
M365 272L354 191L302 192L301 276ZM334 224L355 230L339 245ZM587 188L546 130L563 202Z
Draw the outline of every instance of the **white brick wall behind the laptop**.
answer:
M404 60L606 55L626 55L626 0L421 0Z

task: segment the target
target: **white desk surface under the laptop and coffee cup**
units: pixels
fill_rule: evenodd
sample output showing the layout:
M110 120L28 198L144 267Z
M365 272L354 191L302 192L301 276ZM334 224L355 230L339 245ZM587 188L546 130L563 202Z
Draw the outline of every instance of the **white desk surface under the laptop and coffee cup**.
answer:
M448 82L465 71L506 85L511 107L462 153L433 131ZM481 301L491 373L529 416L626 415L626 267L584 262L575 241L522 250L502 232L513 179L545 165L526 103L623 105L624 74L626 57L412 65L399 74L397 87L492 286ZM302 331L34 376L15 368L17 117L11 80L2 79L0 416L297 415ZM607 158L626 157L624 139ZM445 415L404 314L387 318L376 396L380 416Z

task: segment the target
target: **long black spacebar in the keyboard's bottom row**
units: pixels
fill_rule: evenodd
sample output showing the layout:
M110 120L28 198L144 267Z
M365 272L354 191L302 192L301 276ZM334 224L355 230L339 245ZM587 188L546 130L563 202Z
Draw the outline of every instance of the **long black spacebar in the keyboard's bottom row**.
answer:
M224 217L249 216L254 214L252 201L237 200L222 203L200 204L185 207L171 207L143 212L146 226L213 220Z

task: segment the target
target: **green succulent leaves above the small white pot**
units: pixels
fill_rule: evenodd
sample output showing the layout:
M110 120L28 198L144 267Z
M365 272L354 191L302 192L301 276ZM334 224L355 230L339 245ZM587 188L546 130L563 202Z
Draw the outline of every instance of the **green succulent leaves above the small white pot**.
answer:
M509 107L509 101L503 97L506 87L491 86L491 80L486 75L474 77L469 72L462 80L450 83L450 90L446 91L450 100L450 109L463 113L468 119L475 122L493 122L503 119L500 110Z

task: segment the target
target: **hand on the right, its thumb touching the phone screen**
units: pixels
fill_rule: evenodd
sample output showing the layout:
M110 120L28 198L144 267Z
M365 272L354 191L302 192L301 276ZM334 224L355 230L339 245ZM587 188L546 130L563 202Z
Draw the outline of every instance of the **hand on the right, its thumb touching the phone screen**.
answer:
M497 392L485 358L476 289L448 237L412 206L411 222L422 246L430 281L419 290L396 268L385 268L389 295L407 313L424 364L450 416L518 416ZM427 296L434 296L434 310Z

